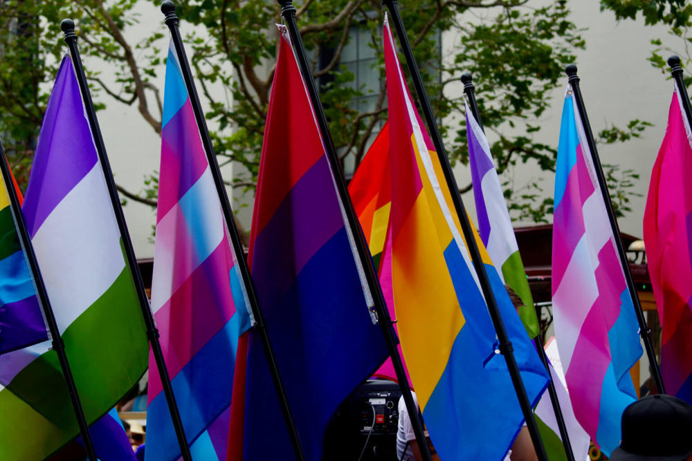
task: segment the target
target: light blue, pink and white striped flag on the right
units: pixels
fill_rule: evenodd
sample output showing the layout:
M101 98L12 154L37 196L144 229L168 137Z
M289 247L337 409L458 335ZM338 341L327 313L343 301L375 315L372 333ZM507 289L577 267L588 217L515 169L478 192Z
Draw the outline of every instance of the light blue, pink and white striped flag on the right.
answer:
M641 357L639 325L571 86L554 204L555 337L574 415L609 455L620 442L622 412L637 399L629 372Z

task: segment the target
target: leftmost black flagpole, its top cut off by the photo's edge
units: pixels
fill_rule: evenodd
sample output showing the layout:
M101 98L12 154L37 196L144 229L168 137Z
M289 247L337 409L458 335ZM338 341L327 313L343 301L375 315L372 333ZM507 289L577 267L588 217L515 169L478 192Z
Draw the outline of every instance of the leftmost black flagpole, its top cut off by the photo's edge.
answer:
M7 189L7 194L10 198L10 209L12 211L12 216L15 218L17 232L19 234L19 239L21 241L21 247L24 249L24 254L26 254L26 261L29 265L29 270L31 271L31 275L34 279L36 294L39 297L39 302L41 303L41 308L44 312L46 323L48 323L48 331L51 332L51 339L53 339L53 350L55 350L55 352L57 353L57 359L60 362L60 368L62 368L62 375L65 378L67 391L70 394L70 400L72 401L72 406L75 409L75 416L77 417L77 424L80 426L80 433L82 433L82 440L84 440L86 454L89 455L89 460L95 461L97 459L96 451L93 449L93 442L91 442L89 424L87 424L86 417L84 417L82 402L80 402L80 396L77 392L75 379L72 376L70 364L67 360L65 344L62 341L62 336L60 336L60 330L57 328L57 321L55 321L55 314L53 313L51 301L48 300L48 294L46 293L46 285L44 285L43 277L41 276L41 271L39 270L39 264L36 261L34 247L33 245L31 245L31 237L29 236L29 232L26 229L24 214L21 212L21 207L19 207L19 198L17 197L17 191L15 191L15 184L12 181L12 175L10 174L10 165L8 165L7 163L7 158L5 157L5 149L3 149L2 141L0 141L0 157L0 169L2 170L2 178L5 181L5 188Z

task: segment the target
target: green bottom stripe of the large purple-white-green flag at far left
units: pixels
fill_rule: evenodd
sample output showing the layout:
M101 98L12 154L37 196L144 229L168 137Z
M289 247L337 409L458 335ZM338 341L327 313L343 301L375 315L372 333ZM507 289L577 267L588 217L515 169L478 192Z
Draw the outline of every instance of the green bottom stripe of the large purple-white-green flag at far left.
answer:
M138 382L148 365L145 324L129 267L62 337L91 424ZM35 359L0 391L0 415L3 438L16 441L0 444L1 460L45 458L78 434L55 351Z

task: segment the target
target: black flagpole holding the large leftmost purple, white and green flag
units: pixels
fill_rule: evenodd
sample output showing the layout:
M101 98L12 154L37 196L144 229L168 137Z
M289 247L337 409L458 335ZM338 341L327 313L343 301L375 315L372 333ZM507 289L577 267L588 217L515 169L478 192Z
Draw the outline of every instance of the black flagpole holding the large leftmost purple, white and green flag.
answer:
M134 280L135 289L137 290L137 296L139 298L140 307L142 308L144 323L147 327L147 337L149 338L149 344L152 347L152 354L154 355L154 359L156 360L156 368L158 368L158 374L161 377L163 393L166 396L168 410L171 414L171 419L173 421L176 437L178 438L180 451L183 456L183 460L190 461L192 460L192 456L190 455L190 446L188 446L188 439L185 438L183 422L178 411L178 405L176 404L175 397L173 395L173 386L171 386L168 370L163 359L161 343L158 342L158 329L156 328L156 324L154 323L154 316L152 315L152 310L151 308L149 308L149 298L147 298L147 291L144 288L142 274L140 274L139 272L137 258L135 257L134 249L132 248L132 241L130 240L129 232L127 232L125 216L123 216L122 207L120 207L120 198L118 198L116 183L113 180L111 164L108 162L108 157L106 156L106 147L103 143L103 138L101 136L101 129L98 126L96 111L93 107L93 101L91 100L91 93L89 93L89 85L86 84L84 66L82 66L82 58L80 57L80 50L77 46L75 23L74 21L72 21L72 19L63 19L60 23L60 28L62 28L62 31L65 34L65 43L70 48L70 55L72 56L72 61L75 66L75 73L80 84L80 91L82 92L82 100L84 100L86 115L89 118L91 136L96 146L96 151L98 152L98 158L101 162L101 167L103 169L103 176L106 180L108 194L111 198L111 204L113 205L113 213L116 215L118 229L120 229L120 236L122 236L122 246L124 247L125 255L127 256L127 265L129 265L130 271L132 273L132 279Z

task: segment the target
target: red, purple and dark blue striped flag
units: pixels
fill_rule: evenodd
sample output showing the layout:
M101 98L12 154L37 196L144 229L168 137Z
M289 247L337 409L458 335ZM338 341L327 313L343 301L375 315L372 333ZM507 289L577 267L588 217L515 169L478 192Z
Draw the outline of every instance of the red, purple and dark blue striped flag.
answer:
M319 460L329 418L387 348L288 32L278 27L248 261L305 456ZM292 459L255 333L245 390L244 438L235 443L243 452L232 459Z

